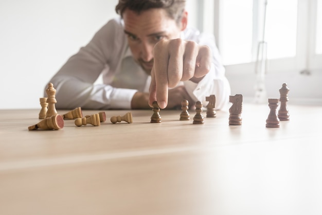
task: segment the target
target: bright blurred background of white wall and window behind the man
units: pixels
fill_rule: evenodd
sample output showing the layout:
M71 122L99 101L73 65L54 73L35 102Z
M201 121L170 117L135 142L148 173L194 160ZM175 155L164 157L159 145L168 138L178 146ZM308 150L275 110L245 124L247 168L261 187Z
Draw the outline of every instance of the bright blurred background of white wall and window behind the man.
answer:
M117 16L117 0L1 0L0 109L38 109L66 60ZM322 105L322 0L187 0L189 25L213 33L231 95ZM98 80L99 82L100 80Z

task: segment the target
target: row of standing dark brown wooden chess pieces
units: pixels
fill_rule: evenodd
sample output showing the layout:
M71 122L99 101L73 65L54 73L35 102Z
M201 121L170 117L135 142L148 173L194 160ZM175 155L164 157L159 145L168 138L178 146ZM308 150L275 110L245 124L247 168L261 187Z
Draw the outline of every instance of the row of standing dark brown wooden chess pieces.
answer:
M287 108L287 102L289 101L288 93L290 89L287 86L287 83L283 83L282 87L279 89L280 98L279 99L269 99L270 114L266 119L267 128L279 128L280 121L290 120L289 110ZM216 96L210 95L206 97L206 101L209 101L207 104L207 115L206 117L216 117ZM229 109L229 125L239 126L242 124L242 101L243 96L241 94L236 94L235 96L229 96L229 102L232 103ZM280 109L277 112L277 107L280 102ZM182 101L182 112L180 114L180 120L190 120L190 115L188 113L188 101ZM160 109L156 101L153 102L153 115L151 116L151 123L159 123L162 121L162 118L159 114ZM195 103L195 112L196 114L193 117L193 124L204 124L204 117L202 116L202 103L197 101Z

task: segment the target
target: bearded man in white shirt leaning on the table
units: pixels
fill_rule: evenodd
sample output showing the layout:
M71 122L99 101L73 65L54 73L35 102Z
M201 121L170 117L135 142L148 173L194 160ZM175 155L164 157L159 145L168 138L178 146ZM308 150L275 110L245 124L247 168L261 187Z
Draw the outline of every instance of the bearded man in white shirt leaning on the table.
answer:
M56 107L176 108L211 94L217 109L230 86L214 38L187 28L184 0L120 0L121 15L104 25L50 80ZM94 84L102 74L103 84ZM205 104L206 105L206 104Z

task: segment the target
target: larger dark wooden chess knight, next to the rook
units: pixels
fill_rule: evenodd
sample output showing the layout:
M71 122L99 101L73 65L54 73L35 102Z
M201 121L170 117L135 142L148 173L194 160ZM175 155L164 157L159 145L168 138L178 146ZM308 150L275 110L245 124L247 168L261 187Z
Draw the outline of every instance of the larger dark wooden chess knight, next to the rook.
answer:
M240 126L242 124L242 102L243 96L236 94L235 96L229 96L229 102L232 103L229 109L229 124L232 126Z

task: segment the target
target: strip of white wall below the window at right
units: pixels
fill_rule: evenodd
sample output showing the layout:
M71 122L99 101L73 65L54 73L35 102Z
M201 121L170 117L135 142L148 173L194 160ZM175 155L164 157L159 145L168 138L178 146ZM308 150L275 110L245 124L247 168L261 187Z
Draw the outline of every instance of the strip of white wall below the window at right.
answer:
M256 74L232 73L226 70L226 77L231 86L231 95L242 94L244 101L255 100ZM301 74L296 71L281 71L280 73L267 73L265 75L266 100L279 98L279 89L282 83L290 88L289 103L322 105L322 70L311 70L310 74Z

